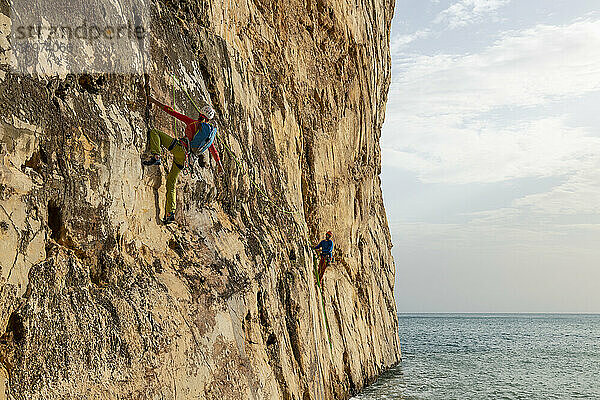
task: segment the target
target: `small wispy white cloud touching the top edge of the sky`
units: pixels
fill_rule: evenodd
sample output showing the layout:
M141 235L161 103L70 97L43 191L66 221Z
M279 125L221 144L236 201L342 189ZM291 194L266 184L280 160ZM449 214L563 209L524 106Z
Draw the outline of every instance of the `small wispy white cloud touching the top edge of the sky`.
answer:
M461 0L440 12L434 23L445 23L450 29L481 22L485 16L492 14L510 0Z

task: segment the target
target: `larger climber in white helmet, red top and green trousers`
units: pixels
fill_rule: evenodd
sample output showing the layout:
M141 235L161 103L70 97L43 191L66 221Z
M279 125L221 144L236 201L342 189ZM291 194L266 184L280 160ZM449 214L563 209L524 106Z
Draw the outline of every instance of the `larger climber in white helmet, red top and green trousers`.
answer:
M185 123L185 136L181 139L176 139L170 135L159 131L158 129L150 129L149 142L150 153L152 155L142 163L146 166L160 165L160 147L166 147L173 154L173 165L167 176L167 202L165 206L165 224L170 224L175 221L175 184L181 170L185 168L188 153L199 155L208 149L217 163L219 172L223 171L219 153L213 141L217 135L217 128L209 124L208 121L215 115L215 110L205 104L200 108L200 116L198 119L190 118L180 114L171 107L161 103L160 101L149 97L150 102L156 104L166 113Z

